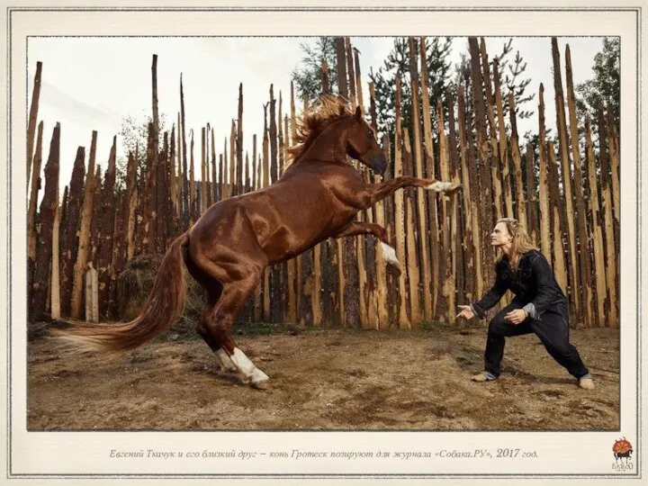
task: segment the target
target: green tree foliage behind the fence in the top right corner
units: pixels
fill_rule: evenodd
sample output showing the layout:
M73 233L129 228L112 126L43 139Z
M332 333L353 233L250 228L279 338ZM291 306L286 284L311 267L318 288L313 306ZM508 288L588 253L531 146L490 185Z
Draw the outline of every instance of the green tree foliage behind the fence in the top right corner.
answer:
M599 108L608 110L617 126L621 121L621 40L618 37L603 38L603 50L594 57L594 77L576 86L576 107L580 116L587 116L596 123Z

